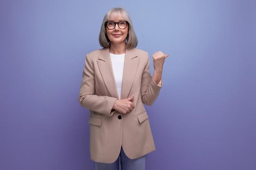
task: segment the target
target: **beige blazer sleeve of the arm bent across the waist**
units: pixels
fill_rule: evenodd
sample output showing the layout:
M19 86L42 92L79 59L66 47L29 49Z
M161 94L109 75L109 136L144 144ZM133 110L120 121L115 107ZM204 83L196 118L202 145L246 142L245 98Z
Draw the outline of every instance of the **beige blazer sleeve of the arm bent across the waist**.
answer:
M95 95L94 64L90 61L89 55L86 55L79 103L85 108L111 116L114 113L112 107L116 100L115 97Z

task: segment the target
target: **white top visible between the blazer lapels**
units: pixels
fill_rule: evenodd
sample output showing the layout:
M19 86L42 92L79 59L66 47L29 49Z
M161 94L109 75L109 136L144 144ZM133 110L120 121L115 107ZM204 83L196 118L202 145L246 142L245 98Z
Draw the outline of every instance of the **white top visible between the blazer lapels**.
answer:
M123 73L124 73L124 54L112 54L110 53L110 58L112 62L113 73L115 76L116 86L117 86L117 93L119 99L121 98L121 91L122 91L122 80L123 80Z

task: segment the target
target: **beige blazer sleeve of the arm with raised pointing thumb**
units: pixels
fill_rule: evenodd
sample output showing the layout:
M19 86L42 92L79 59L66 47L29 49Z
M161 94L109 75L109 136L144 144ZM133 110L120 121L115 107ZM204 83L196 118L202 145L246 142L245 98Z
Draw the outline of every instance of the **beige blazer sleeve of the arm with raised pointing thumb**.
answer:
M144 104L151 106L162 88L162 79L156 84L150 75L150 61L148 53L146 53L146 64L141 79L141 100Z

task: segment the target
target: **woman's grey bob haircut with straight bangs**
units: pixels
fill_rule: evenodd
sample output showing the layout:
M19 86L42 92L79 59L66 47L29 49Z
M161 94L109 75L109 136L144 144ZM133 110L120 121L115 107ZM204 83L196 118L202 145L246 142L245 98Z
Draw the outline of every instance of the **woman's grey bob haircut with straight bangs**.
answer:
M112 8L110 9L105 17L103 18L103 22L101 24L101 31L99 33L99 44L103 48L110 47L110 40L108 39L108 35L106 34L106 26L105 22L109 21L110 16L113 15L113 17L117 17L118 15L122 15L124 17L124 20L128 21L128 35L126 37L126 49L133 49L138 44L137 36L134 32L133 26L132 26L132 20L130 18L129 13L124 9L123 7L118 8Z

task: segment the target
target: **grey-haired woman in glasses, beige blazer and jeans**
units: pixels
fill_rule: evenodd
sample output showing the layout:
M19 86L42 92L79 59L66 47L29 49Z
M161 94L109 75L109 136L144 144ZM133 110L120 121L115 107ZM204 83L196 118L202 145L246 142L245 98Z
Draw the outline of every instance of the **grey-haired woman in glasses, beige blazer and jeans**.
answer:
M102 22L103 49L86 55L79 93L81 106L90 109L90 155L95 170L144 170L146 155L155 150L148 115L162 87L168 55L139 49L128 12L110 9Z

